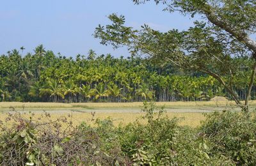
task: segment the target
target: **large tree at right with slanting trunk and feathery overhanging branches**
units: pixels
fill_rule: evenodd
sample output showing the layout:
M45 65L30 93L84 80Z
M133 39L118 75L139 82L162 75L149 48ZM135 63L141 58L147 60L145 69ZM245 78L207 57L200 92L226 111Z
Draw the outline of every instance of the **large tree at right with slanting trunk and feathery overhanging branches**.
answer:
M146 0L149 1L149 0ZM133 0L136 4L145 3ZM179 11L182 15L201 20L187 31L155 31L147 25L141 30L124 26L124 16L109 15L113 24L99 26L95 37L100 43L117 48L126 45L132 54L147 54L159 63L170 61L185 70L195 70L211 75L222 84L234 98L237 105L248 110L248 100L256 73L256 1L251 0L154 0L166 5L164 10ZM234 91L233 78L239 76L242 64L236 64L233 57L248 56L252 63L250 80L244 82L246 98L242 104ZM223 77L228 77L224 79Z

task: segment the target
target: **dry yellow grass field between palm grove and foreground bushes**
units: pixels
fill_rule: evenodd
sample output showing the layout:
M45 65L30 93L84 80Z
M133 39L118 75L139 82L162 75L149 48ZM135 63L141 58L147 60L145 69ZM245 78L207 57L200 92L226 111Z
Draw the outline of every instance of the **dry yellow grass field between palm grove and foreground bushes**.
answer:
M250 102L251 105L255 106L256 101ZM157 102L157 107L165 107L166 109L177 109L177 112L167 112L166 115L170 118L179 117L179 124L184 126L198 126L200 121L204 120L205 117L200 112L179 112L180 109L200 109L201 107L211 107L211 108L221 108L225 109L226 107L232 108L235 107L234 102ZM92 114L94 109L103 109L103 112L96 112L94 119L106 119L111 117L113 123L118 125L120 123L127 124L140 119L141 123L145 123L145 120L141 119L144 113L141 112L122 112L122 109L141 109L143 107L142 102L134 103L20 103L20 102L1 102L0 103L0 120L4 121L6 112L8 110L47 110L51 113L51 118L56 119L60 116L67 116L67 112L61 112L60 110L87 110L87 112L73 112L72 121L74 124L80 124L85 121L88 124L93 124L95 121L92 121ZM104 112L104 109L108 110L119 110L118 112ZM59 112L60 111L60 112ZM89 112L88 112L89 111ZM42 112L41 112L42 113ZM25 115L28 116L28 115ZM35 116L40 116L40 113L36 113Z

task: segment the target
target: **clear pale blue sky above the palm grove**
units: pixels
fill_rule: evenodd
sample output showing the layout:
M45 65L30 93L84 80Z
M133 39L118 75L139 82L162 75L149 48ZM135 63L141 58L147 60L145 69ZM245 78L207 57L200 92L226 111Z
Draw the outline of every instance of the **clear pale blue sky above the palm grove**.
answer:
M60 52L63 56L97 54L129 56L125 49L113 50L100 45L92 34L99 24L109 23L111 13L125 15L127 26L140 28L148 24L159 31L187 29L193 20L162 11L154 3L134 5L132 0L8 0L0 5L0 54L24 46L33 52L37 45Z

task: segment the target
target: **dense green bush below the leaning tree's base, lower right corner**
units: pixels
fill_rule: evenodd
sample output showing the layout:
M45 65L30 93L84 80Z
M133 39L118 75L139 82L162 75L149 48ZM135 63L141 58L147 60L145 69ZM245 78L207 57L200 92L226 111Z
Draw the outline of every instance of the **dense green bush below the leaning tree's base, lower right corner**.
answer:
M214 112L200 128L211 142L212 155L223 155L237 165L256 165L255 113Z

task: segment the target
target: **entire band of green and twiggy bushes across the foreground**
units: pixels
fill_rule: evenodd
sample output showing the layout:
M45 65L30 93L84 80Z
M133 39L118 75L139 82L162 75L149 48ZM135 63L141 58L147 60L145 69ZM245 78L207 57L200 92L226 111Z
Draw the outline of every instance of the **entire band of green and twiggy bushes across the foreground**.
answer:
M111 119L74 127L71 117L44 121L9 114L1 124L1 165L255 165L254 113L214 112L200 128L178 126L145 103L148 120L113 126ZM156 112L156 113L155 113ZM46 120L45 120L46 119Z

